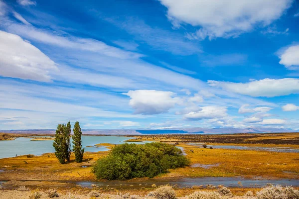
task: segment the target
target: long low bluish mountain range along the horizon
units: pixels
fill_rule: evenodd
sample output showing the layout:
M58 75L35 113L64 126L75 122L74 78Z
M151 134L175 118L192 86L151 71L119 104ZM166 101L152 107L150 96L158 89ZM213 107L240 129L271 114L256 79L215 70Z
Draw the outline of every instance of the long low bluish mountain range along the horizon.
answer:
M32 133L54 134L55 129L30 129L30 130L0 130L4 133ZM230 133L285 133L298 132L287 128L169 128L169 129L82 129L83 134L95 135L141 135L141 134L230 134Z

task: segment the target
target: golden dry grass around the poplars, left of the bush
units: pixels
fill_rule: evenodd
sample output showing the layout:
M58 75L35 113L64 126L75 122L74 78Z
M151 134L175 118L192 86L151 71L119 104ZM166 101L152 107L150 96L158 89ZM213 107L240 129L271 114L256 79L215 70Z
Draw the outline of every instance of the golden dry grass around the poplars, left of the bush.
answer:
M82 168L83 165L91 166L97 159L107 155L108 152L84 153L83 162L75 163L72 153L71 163L59 164L53 153L27 158L26 155L0 159L0 168L6 171L0 175L0 180L96 180L91 173L91 167ZM25 162L27 164L25 164Z

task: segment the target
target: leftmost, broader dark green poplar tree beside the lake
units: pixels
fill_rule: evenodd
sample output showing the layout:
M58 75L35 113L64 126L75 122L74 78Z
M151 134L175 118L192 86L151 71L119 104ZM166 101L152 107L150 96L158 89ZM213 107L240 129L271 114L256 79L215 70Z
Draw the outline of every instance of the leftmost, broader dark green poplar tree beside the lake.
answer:
M60 164L64 164L66 158L65 130L66 126L64 124L58 124L53 142L55 156L58 158Z

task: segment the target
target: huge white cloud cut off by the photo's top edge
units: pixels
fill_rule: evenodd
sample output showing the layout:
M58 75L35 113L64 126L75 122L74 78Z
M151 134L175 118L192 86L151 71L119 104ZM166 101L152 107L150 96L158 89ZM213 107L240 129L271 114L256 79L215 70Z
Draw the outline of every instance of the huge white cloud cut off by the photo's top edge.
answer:
M160 0L170 21L201 26L195 36L230 37L280 18L293 0Z

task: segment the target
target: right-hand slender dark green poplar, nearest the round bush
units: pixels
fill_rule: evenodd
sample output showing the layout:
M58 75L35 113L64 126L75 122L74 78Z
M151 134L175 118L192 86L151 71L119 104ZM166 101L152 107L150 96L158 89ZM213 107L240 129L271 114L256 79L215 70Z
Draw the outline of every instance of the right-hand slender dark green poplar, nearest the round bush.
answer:
M82 140L81 140L81 136L82 136L82 131L80 128L80 124L78 121L76 121L74 129L74 136L73 138L73 152L75 153L75 161L76 162L82 162L83 160L83 153L84 153L84 149L82 149Z

